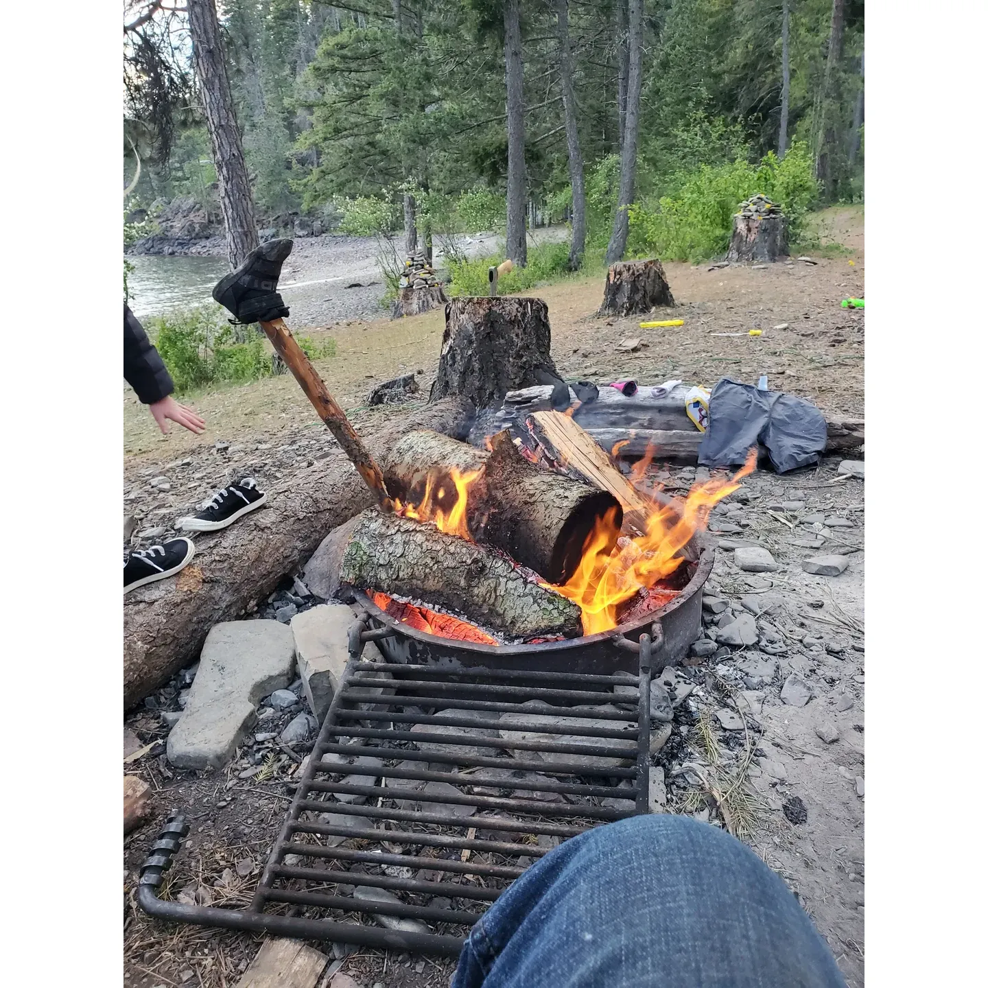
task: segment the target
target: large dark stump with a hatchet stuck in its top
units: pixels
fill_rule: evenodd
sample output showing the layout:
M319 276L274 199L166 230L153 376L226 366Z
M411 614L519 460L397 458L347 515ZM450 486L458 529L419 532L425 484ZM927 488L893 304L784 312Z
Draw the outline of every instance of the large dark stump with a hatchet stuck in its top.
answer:
M550 345L548 306L540 298L453 298L429 400L460 395L482 409L520 387L560 383Z

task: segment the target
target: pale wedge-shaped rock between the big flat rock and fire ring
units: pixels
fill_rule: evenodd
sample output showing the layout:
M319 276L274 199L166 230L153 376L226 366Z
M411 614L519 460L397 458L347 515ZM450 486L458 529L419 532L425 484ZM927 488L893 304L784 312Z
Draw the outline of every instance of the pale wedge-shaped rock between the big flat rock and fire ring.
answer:
M291 618L298 675L312 712L322 720L336 693L349 658L348 632L356 618L345 604L320 604ZM380 661L376 647L365 646L365 658Z

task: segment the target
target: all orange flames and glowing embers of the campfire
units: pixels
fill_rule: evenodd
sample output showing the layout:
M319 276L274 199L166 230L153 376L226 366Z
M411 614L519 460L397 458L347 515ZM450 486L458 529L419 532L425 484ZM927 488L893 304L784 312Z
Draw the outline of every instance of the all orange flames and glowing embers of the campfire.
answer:
M496 449L491 438L485 444ZM537 453L521 445L519 453L528 462L538 461ZM711 478L695 484L686 497L659 501L643 496L645 511L634 515L633 523L622 526L620 506L608 508L598 517L582 543L579 561L565 582L535 582L545 591L575 603L580 610L584 635L608 631L623 620L646 616L674 600L685 584L681 578L686 559L683 550L693 537L706 529L710 509L737 490L740 480L754 469L754 455L730 479ZM654 461L647 451L632 467L636 485L644 480ZM545 465L536 467L545 470ZM421 493L409 500L395 499L395 514L424 527L434 528L470 543L477 543L477 533L470 531L469 520L479 520L483 530L485 512L478 507L484 493L485 469L461 470L434 467L420 483ZM661 491L661 487L659 488ZM635 529L641 531L635 531ZM515 560L512 560L515 563ZM390 617L417 630L455 641L488 645L502 644L502 638L464 617L436 610L429 602L386 593L385 589L366 589L371 601ZM536 635L529 643L557 640L560 635Z

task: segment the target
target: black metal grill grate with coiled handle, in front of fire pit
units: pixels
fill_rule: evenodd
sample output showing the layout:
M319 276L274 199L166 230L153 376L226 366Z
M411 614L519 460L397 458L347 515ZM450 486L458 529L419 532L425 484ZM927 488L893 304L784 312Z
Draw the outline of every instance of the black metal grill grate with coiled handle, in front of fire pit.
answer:
M559 841L647 812L646 635L639 658L638 677L352 658L249 909L157 898L177 821L142 869L141 905L205 925L456 954Z

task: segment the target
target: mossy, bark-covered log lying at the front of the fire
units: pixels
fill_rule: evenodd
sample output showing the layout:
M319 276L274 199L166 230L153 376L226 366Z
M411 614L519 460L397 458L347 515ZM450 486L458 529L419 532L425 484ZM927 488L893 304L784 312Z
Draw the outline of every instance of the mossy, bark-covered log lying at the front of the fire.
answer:
M582 634L580 608L496 549L434 525L366 511L343 553L342 583L421 600L509 638Z

